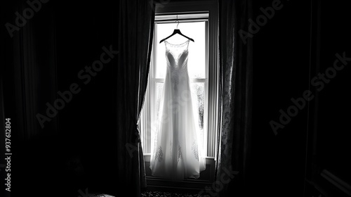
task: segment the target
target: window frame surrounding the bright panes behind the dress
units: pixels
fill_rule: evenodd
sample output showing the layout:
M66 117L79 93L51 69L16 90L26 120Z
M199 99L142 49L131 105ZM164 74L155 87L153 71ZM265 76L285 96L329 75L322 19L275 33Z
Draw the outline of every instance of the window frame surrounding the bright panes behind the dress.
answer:
M216 158L216 139L218 133L218 99L219 99L219 82L218 82L218 29L217 29L217 11L215 1L204 1L201 2L201 6L199 6L199 2L197 1L188 1L182 2L172 5L159 6L156 8L156 16L155 16L155 28L154 34L156 32L156 23L170 23L169 20L178 20L181 22L195 22L195 21L204 21L206 20L207 24L207 32L206 32L206 78L205 80L196 80L193 79L192 82L204 82L205 88L207 86L207 94L205 95L205 105L207 106L207 110L204 111L204 127L206 125L206 139L207 139L207 159ZM192 6L193 5L193 6ZM203 14L203 17L201 17ZM208 18L204 18L204 14L208 14ZM196 15L196 18L190 19L190 15ZM167 16L165 18L165 16ZM167 21L168 20L168 21ZM154 44L156 44L157 40L154 39ZM154 51L154 47L152 47L152 57L151 57L151 65L150 65L150 75L149 75L149 83L147 84L147 92L145 95L145 103L142 114L140 115L140 132L142 141L149 140L149 144L143 144L143 147L150 148L151 151L151 130L155 128L151 128L151 120L154 117L151 117L151 114L145 113L145 111L150 112L151 107L155 105L156 98L153 96L156 95L156 84L157 82L163 82L163 79L153 79L151 75L154 75L154 60L157 51ZM150 84L154 85L154 92L150 89ZM154 103L151 103L154 102ZM154 114L155 115L155 114ZM148 123L149 122L149 123ZM146 132L144 132L146 131ZM145 161L150 161L151 153L144 153Z

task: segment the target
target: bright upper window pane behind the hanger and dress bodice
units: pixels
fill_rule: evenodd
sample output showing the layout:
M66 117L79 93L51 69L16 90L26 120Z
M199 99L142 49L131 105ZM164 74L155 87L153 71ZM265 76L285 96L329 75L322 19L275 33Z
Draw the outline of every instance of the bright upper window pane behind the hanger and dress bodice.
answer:
M179 23L178 29L187 37L194 39L194 42L189 43L189 56L187 68L190 78L205 78L205 63L206 63L206 22ZM164 42L159 43L173 33L177 23L161 23L157 24L157 54L156 54L156 69L155 77L164 78L166 74L166 46ZM171 44L182 44L187 39L179 34L173 35L167 39Z

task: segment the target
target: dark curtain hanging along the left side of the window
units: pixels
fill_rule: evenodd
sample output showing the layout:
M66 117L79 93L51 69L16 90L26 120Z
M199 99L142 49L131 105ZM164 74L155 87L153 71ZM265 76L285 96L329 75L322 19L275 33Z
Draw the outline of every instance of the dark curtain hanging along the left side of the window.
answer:
M143 106L154 30L152 1L119 3L117 58L117 174L128 196L140 196L146 187L138 117Z

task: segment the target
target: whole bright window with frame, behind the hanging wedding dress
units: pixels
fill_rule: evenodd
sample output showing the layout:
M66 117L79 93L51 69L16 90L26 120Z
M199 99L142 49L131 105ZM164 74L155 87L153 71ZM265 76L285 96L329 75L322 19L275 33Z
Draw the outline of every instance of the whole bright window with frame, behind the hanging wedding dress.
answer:
M154 44L152 46L152 60L150 64L149 83L142 113L140 115L140 134L145 161L150 160L153 140L157 133L157 120L161 91L166 73L165 44L161 39L168 37L177 28L187 37L194 39L189 44L189 57L187 68L192 82L192 91L197 95L197 105L199 108L199 127L201 129L202 151L208 158L215 156L217 127L217 102L218 102L218 74L216 46L213 37L214 25L211 26L209 13L168 13L156 15L154 25ZM179 23L176 23L176 20ZM168 42L180 44L186 38L175 35ZM211 48L212 46L213 48ZM149 156L149 158L147 158Z

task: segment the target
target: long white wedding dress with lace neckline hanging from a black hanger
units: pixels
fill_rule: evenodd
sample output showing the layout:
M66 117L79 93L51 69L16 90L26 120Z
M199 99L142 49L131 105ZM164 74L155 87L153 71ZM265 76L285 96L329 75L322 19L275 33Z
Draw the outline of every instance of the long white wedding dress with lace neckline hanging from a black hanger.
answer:
M165 45L166 77L150 168L157 177L197 179L205 170L205 158L199 149L197 97L190 91L187 71L189 40Z

